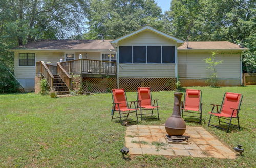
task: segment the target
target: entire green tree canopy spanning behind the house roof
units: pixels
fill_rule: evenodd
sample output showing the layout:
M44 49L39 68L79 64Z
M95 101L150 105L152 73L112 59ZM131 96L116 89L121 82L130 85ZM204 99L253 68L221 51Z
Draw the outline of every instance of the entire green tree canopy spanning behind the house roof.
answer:
M0 64L13 71L14 46L37 39L114 39L144 25L191 41L225 40L243 53L247 72L256 72L254 0L172 0L162 14L155 0L2 0Z

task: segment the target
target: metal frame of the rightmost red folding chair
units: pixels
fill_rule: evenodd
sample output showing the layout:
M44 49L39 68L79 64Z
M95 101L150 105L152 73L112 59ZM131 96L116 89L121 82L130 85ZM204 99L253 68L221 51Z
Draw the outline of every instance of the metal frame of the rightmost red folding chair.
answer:
M223 102L224 102L224 99L225 99L226 94L227 94L227 92L226 92L226 93L224 94L224 96L223 96L221 105L211 104L211 105L212 105L211 113L213 113L215 106L216 106L216 108L217 108L217 113L221 113L222 106L223 106ZM210 119L209 119L208 127L209 127L209 126L213 126L213 127L216 127L216 128L220 128L220 129L226 130L227 133L229 132L229 129L230 129L230 126L231 126L231 125L236 126L236 127L238 127L239 130L241 130L241 128L240 128L240 123L239 123L239 116L238 116L238 113L239 113L239 111L241 110L241 109L240 109L240 106L241 106L242 100L243 100L243 95L241 94L238 109L236 109L236 108L230 108L230 109L232 109L232 115L231 115L231 117L226 117L226 118L224 118L224 117L215 116L215 115L210 114ZM218 106L221 106L221 109L220 109L220 110L218 110ZM237 111L237 116L236 116L236 117L233 117L234 111ZM212 124L210 124L211 116L218 117L219 125L221 125L221 122L228 124L228 129L222 128L222 127L217 126L217 125L212 125ZM229 123L224 122L224 121L220 121L220 118L221 118L221 119L225 119L225 120L229 120ZM229 119L227 119L227 118L229 118ZM237 118L237 120L238 120L238 125L231 124L232 118Z

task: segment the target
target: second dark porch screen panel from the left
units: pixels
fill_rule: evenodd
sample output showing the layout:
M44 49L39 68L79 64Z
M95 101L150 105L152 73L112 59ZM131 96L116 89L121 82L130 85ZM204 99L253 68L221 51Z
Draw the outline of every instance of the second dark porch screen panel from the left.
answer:
M146 63L146 46L133 46L133 63Z

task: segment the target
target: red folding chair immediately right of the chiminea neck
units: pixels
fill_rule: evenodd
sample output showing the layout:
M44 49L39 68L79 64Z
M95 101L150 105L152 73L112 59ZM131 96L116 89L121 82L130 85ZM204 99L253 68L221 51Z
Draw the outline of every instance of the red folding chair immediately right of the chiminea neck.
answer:
M196 122L202 124L202 110L203 104L201 103L202 91L196 89L186 89L184 95L184 102L181 102L181 115L187 117L199 118L199 121L185 120L188 122ZM194 116L184 115L184 113L193 113ZM199 116L197 115L199 114Z

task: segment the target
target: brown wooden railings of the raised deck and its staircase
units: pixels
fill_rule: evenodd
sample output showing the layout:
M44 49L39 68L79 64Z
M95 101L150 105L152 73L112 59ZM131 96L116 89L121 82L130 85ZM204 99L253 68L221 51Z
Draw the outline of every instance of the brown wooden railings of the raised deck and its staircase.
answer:
M59 76L65 85L72 90L72 75L84 78L109 78L116 77L116 62L77 59L57 63L57 65L45 64L44 61L36 62L36 73L45 77L51 89L54 76Z

